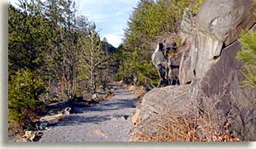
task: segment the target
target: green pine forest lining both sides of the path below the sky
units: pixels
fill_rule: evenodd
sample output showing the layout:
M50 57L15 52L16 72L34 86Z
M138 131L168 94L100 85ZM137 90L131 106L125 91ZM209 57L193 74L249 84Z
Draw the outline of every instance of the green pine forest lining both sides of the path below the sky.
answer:
M73 0L21 0L8 5L8 112L10 129L30 129L36 113L52 101L85 100L110 81L145 86L159 81L151 63L154 46L178 34L186 7L197 15L204 0L140 0L115 49L93 22L77 15ZM255 87L255 32L244 33L239 58L246 83ZM173 38L181 44L181 39Z

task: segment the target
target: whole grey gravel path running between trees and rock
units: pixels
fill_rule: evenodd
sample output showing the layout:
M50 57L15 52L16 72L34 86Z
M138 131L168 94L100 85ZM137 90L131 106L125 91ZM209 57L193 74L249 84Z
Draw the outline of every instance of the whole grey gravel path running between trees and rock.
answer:
M117 83L111 100L96 106L79 108L49 130L40 142L128 142L135 95Z

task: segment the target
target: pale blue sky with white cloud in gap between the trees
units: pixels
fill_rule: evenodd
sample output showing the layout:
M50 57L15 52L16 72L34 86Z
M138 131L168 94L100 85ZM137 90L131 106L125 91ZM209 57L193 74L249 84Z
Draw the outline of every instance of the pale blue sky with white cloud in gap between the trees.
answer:
M18 0L9 0L11 3ZM127 21L139 0L76 0L78 14L94 21L101 37L115 47L124 38Z

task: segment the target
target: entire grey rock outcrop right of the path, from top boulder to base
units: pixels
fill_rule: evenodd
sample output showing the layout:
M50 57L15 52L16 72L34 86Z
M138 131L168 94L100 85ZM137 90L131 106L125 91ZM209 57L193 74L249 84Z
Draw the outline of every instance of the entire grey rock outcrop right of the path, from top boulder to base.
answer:
M241 31L256 28L253 11L250 0L207 0L194 29L190 26L193 23L189 25L192 20L182 21L183 35L192 39L181 56L178 75L182 86L149 91L133 119L135 131L154 130L147 123L159 121L168 110L189 112L184 107L194 108L192 99L204 107L208 102L203 98L206 95L218 99L212 109L223 115L230 114L233 119L230 129L235 137L255 141L256 91L240 85L244 80L243 63L236 59L241 49L238 40ZM188 18L184 12L185 16Z

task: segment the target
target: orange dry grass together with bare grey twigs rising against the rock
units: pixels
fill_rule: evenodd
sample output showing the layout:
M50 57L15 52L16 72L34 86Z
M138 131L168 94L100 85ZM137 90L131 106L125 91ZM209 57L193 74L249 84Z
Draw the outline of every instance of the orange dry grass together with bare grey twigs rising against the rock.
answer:
M197 108L187 107L186 113L170 109L163 114L161 120L154 123L157 133L144 131L133 134L133 141L139 142L240 142L230 130L229 118L221 110L216 109L223 95L215 97L202 96L205 105L198 104Z

